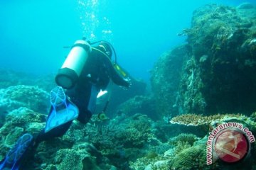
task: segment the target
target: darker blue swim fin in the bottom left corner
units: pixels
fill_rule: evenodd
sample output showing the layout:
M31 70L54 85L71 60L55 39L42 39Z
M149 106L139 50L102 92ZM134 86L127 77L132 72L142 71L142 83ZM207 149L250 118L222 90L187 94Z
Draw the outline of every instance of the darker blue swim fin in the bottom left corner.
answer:
M33 136L28 133L21 136L16 142L16 145L9 150L4 160L0 162L0 170L18 170L21 159L32 141Z

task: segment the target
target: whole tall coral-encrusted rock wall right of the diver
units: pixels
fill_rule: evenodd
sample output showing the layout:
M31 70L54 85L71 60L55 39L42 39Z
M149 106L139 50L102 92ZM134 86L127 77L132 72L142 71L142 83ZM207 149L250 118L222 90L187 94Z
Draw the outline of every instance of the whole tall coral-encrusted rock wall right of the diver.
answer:
M187 36L187 45L160 57L152 72L159 114L256 110L255 6L203 6L178 35Z

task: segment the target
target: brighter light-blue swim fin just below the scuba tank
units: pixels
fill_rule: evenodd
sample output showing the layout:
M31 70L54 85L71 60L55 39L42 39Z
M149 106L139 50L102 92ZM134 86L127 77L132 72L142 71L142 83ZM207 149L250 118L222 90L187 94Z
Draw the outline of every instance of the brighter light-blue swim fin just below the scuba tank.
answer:
M68 100L61 86L50 91L50 104L51 108L46 121L45 132L78 118L78 107Z

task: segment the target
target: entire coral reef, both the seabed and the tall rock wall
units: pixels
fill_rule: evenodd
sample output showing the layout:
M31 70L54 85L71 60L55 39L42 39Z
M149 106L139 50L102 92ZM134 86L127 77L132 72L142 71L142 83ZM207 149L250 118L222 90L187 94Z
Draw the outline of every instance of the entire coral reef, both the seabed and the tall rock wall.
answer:
M136 79L134 89L112 89L110 119L92 119L87 125L74 120L63 137L41 142L23 168L227 169L230 165L220 160L206 165L206 142L208 132L221 123L242 123L256 132L255 16L251 4L198 8L191 28L181 33L188 36L188 43L164 53L152 69L154 96L142 96L145 84ZM23 133L36 136L44 128L46 91L53 86L53 75L37 77L37 86L29 76L19 80L4 74L0 159ZM255 147L253 143L248 159L235 166L253 169Z

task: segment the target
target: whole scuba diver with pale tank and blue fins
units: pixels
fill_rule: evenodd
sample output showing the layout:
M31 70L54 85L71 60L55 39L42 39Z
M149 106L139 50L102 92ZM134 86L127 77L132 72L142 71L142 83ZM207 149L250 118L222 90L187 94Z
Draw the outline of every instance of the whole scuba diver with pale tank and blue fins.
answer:
M131 85L127 74L117 65L112 45L106 41L76 41L55 77L58 86L50 91L46 127L36 135L21 136L0 162L0 170L19 169L28 150L36 150L42 141L63 136L73 120L87 123L95 111L97 94L107 88L110 80L125 88Z

